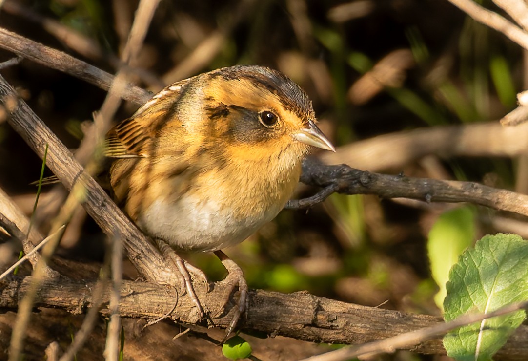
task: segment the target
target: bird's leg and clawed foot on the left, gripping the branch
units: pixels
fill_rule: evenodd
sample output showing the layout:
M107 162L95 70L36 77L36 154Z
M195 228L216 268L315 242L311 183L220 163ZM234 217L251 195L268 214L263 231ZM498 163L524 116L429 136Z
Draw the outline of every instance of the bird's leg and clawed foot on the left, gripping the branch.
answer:
M156 239L156 244L159 248L159 251L162 252L163 257L169 258L173 261L174 265L176 266L176 269L181 275L181 292L183 292L183 290L187 291L188 297L191 299L191 302L194 303L194 306L196 306L198 312L200 313L200 318L203 318L205 316L205 312L203 310L202 304L200 303L200 300L196 295L196 292L194 291L193 283L191 281L191 273L193 273L198 279L200 279L207 285L206 292L209 292L209 282L207 281L205 273L185 261L182 257L178 256L174 252L174 250L169 247L169 245L167 245L162 239Z

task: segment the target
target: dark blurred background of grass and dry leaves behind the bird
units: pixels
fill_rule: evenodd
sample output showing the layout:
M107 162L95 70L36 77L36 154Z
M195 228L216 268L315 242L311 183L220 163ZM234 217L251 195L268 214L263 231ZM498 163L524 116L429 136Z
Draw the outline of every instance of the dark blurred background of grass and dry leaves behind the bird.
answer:
M129 0L7 0L0 25L115 72L136 6ZM89 51L68 40L71 34L86 40ZM12 57L0 52L2 61ZM250 63L276 68L308 92L320 127L342 146L416 128L498 121L525 88L524 57L503 35L444 0L166 0L131 64L131 80L155 92L218 67ZM90 122L105 97L101 89L27 60L2 73L70 147L76 147L84 122ZM116 121L136 108L124 104ZM340 156L338 148L333 162L340 163ZM430 155L394 168L380 168L381 161L369 159L369 169L507 189L517 189L522 178L518 158ZM28 211L35 192L29 183L39 171L40 160L0 123L0 185ZM297 197L315 191L300 186ZM53 214L45 209L45 194L41 198L45 228L42 219ZM308 290L366 306L440 314L427 242L437 218L453 208L333 195L307 212L281 212L227 253L252 288ZM475 224L476 235L508 231L490 220L494 212L478 208L470 214L474 217L465 219ZM446 218L442 222L449 222ZM79 212L70 228L60 254L101 260L103 236L97 226ZM441 229L435 233L440 244ZM15 257L20 249L10 247L2 251ZM445 257L441 248L430 253L436 257L432 263ZM213 256L189 257L212 279L225 275Z

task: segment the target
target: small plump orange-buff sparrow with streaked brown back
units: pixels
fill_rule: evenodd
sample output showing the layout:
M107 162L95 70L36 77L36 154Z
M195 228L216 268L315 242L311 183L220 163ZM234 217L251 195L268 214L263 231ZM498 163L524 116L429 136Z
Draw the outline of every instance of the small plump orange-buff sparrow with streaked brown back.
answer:
M248 286L221 250L277 216L312 147L335 151L315 120L306 92L282 73L233 66L164 88L107 134L111 190L128 216L176 252L214 252L238 284L227 335Z

